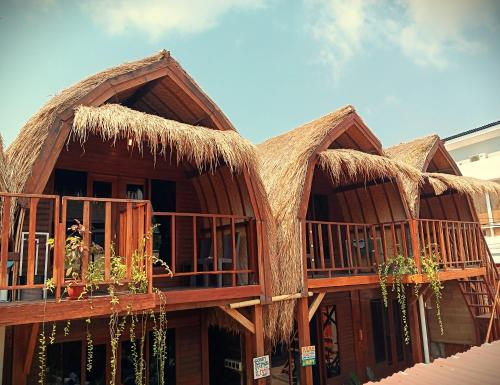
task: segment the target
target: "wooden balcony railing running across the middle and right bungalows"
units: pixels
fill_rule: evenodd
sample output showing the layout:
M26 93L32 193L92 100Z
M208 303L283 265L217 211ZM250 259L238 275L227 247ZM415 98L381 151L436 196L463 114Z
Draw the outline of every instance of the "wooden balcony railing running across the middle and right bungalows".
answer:
M389 258L432 257L442 270L484 266L488 258L480 225L446 220L365 224L306 221L305 262L310 278L376 274Z

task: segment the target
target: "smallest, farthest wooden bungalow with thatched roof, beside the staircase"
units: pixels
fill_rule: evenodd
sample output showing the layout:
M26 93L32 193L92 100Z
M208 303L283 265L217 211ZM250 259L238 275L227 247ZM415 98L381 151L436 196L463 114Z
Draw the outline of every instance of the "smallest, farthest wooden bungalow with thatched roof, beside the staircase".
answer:
M392 159L423 173L422 185L405 185L408 205L413 217L419 220L422 253L439 255L443 271L476 271L444 286L442 302L446 332L441 335L435 319L429 317L431 356L449 356L479 345L488 333L494 298L498 296L495 293L499 275L472 202L478 194L498 194L500 186L462 177L437 135L402 143L385 152ZM498 323L492 323L489 339L500 338L499 332Z

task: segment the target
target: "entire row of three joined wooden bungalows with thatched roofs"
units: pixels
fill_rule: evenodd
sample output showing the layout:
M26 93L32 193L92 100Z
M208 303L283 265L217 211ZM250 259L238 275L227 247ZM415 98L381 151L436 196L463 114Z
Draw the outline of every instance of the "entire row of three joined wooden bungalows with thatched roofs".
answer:
M439 139L402 146L385 152L347 106L255 148L166 51L62 91L0 151L2 384L36 383L40 353L47 384L137 383L138 335L139 383L161 383L161 314L168 385L381 378L424 360L422 316L434 349L478 343L498 273L469 195L498 186L460 177ZM85 231L71 277L75 224ZM406 282L428 299L429 255L446 306L470 312L443 314L462 339L437 337L416 296L403 312L381 294L379 266L404 256L416 266ZM96 266L91 295L69 298ZM310 346L316 362L303 365ZM271 375L254 380L253 358L266 354Z

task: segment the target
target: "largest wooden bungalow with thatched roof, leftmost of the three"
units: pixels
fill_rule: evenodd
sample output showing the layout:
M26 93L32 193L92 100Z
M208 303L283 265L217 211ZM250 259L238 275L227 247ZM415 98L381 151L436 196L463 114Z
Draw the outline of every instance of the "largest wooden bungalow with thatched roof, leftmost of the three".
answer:
M45 351L47 383L70 378L102 384L113 375L116 383L134 383L128 332L114 356L117 372L110 373L109 316L116 312L129 323L130 312L161 308L168 320L166 383L262 383L253 381L252 358L264 353L262 304L271 300L265 271L274 230L256 150L169 52L62 91L6 153L0 192L3 384L36 382L37 341L47 325L55 337ZM75 220L85 228L85 247L78 276L68 278L65 238ZM93 245L101 247L98 255ZM137 262L141 245L147 258ZM123 282L135 282L139 271L147 285L136 292L125 285L111 306L105 288L115 277L117 255L126 266ZM96 293L68 299L69 282L88 283L98 257L103 279ZM52 292L44 290L48 281ZM238 310L229 307L234 303ZM149 329L142 324L144 376L156 384Z

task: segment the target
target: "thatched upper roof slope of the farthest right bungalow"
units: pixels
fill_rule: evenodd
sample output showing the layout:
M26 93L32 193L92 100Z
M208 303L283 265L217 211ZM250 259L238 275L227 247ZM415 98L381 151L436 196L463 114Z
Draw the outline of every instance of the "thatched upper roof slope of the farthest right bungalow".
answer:
M419 171L425 172L424 167L427 158L439 141L439 136L433 134L386 148L384 152L392 159L399 160L417 168Z

